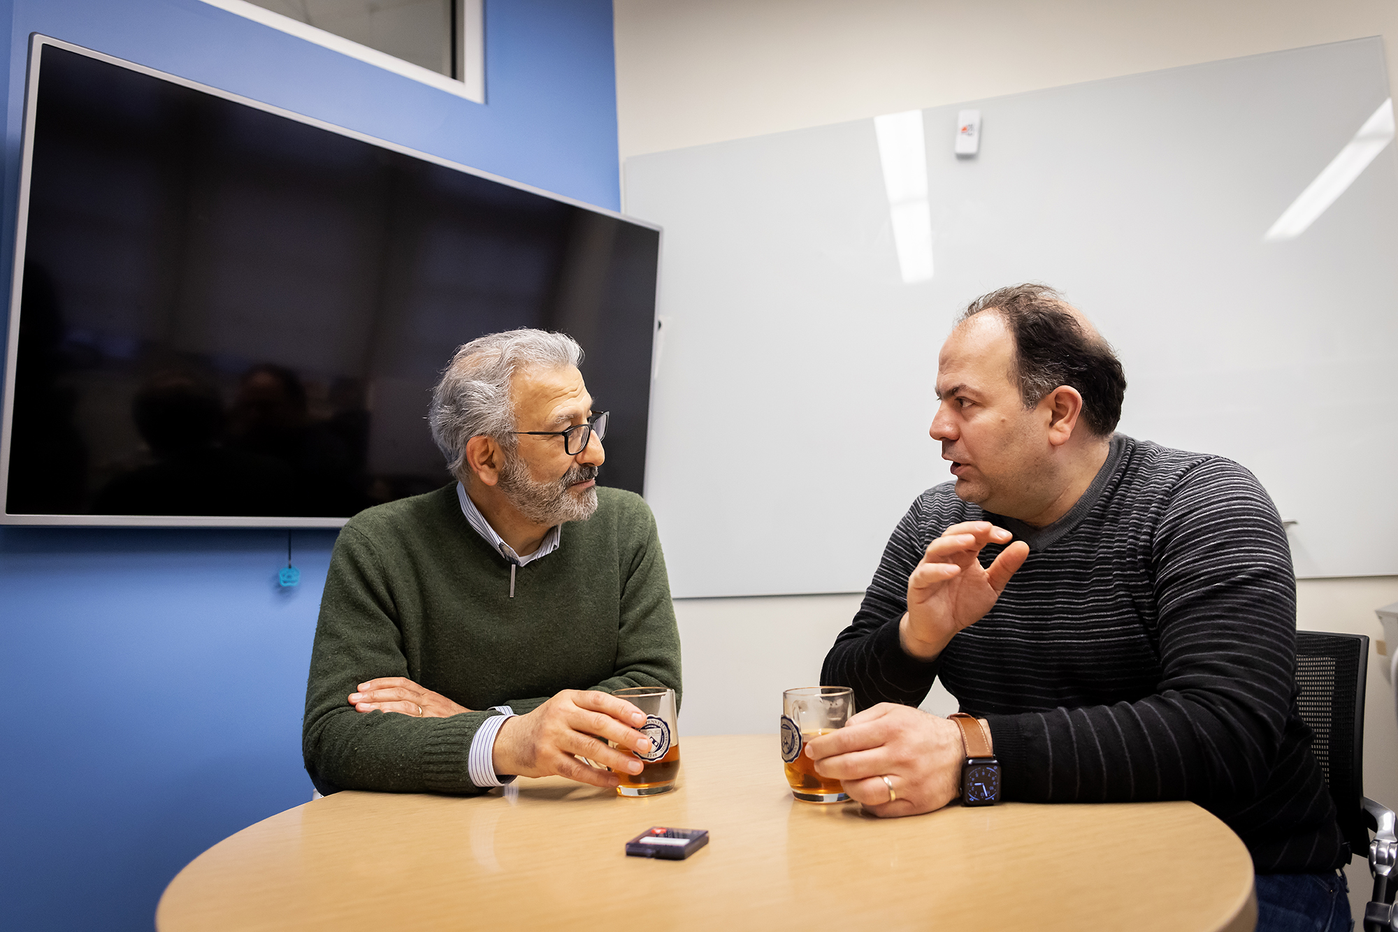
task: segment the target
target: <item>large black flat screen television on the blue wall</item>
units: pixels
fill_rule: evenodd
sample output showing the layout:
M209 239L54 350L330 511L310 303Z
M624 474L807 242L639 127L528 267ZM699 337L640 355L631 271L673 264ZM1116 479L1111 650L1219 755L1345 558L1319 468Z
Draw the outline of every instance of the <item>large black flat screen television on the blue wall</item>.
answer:
M572 334L643 490L660 231L35 36L0 523L336 527L450 481L453 351Z

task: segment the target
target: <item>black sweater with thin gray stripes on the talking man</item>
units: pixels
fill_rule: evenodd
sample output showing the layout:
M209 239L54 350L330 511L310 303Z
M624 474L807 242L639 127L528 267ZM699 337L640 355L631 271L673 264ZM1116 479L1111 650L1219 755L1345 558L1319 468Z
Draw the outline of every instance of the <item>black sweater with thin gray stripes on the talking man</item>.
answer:
M946 527L977 520L1026 541L1029 559L937 660L914 660L898 639L907 576ZM1005 799L1190 799L1258 873L1314 873L1349 852L1296 708L1295 653L1290 551L1253 474L1116 435L1046 528L981 511L952 482L920 495L821 682L867 708L917 706L941 676L990 721Z

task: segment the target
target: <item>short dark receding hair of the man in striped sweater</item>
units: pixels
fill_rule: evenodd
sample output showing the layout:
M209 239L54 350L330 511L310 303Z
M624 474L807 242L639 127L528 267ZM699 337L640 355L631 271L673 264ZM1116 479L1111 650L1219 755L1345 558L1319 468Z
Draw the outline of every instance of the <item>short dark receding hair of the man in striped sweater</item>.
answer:
M1121 419L1127 376L1106 340L1083 327L1068 303L1047 285L1009 285L981 295L956 323L981 312L995 312L1015 338L1019 397L1033 408L1058 386L1082 395L1082 419L1099 437L1111 436Z

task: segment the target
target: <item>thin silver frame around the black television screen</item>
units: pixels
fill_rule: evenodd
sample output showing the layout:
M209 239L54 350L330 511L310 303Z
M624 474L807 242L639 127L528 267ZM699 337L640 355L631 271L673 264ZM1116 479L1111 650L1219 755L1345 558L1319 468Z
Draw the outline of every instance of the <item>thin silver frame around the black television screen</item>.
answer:
M461 165L460 162L453 162L450 159L440 158L438 155L431 155L428 152L421 152L407 145L398 145L396 143L389 143L387 140L380 140L377 137L369 136L366 133L359 133L355 130L348 130L343 126L336 126L334 123L326 123L324 120L317 120L292 110L287 110L270 103L263 103L252 98L242 96L239 94L231 94L229 91L222 91L207 84L200 84L199 81L190 81L187 78L169 74L166 71L158 71L155 68L148 68L143 64L136 64L134 61L127 61L124 59L117 59L102 52L95 52L92 49L82 48L80 45L73 45L71 42L64 42L62 39L55 39L38 32L29 35L29 61L25 71L25 91L24 91L24 129L20 144L20 197L15 201L15 238L14 238L14 267L11 270L10 281L10 320L6 337L6 356L4 356L4 386L3 397L0 397L0 525L29 525L29 527L53 527L53 525L67 525L67 527L257 527L257 528L338 528L344 527L350 516L343 518L326 518L326 517L229 517L229 516L166 516L166 514L10 514L7 510L7 497L10 492L10 430L11 422L14 419L14 381L15 381L15 361L20 352L20 298L24 293L24 253L25 242L28 239L28 225L29 225L29 175L32 168L34 156L34 123L35 123L35 98L39 91L39 57L41 49L43 46L55 46L67 52L74 52L78 54L85 54L91 59L105 61L108 64L115 64L117 67L136 71L138 74L145 74L162 81L169 81L180 87L186 87L194 91L201 91L204 94L212 94L214 96L222 98L225 101L232 101L233 103L242 103L245 106L252 106L264 113L273 113L275 116L287 117L306 126L313 126L316 129L329 130L331 133L338 133L340 136L358 140L361 143L368 143L370 145L377 145L380 148L398 152L401 155L408 155L411 158L418 158L442 168L449 168L457 172L464 172L467 175L474 175L477 177L484 177L491 182L498 182L509 187L519 189L521 191L528 191L531 194L540 194L563 204L570 204L583 210L593 211L596 214L603 214L604 217L611 217L615 219L625 221L628 224L635 224L646 229L653 229L658 235L657 239L657 270L656 270L656 306L660 302L660 275L658 268L660 256L664 254L664 231L651 222L637 219L635 217L628 217L618 211L611 211L604 207L597 207L596 204L587 204L584 201L566 197L563 194L555 194L554 191L547 191L541 187L534 187L533 184L524 184L521 182L514 182L491 172L482 172L480 169L471 168L470 165ZM658 327L656 326L656 316L651 314L651 340L650 340L650 380L651 380L651 397L654 395L654 373L656 373L656 354L660 351L661 338L658 334ZM586 347L584 347L586 349ZM446 365L446 359L442 365ZM650 443L649 432L654 428L651 418L654 416L653 405L647 400L646 405L646 423L647 423L647 443L646 443L646 476L649 481L650 474Z

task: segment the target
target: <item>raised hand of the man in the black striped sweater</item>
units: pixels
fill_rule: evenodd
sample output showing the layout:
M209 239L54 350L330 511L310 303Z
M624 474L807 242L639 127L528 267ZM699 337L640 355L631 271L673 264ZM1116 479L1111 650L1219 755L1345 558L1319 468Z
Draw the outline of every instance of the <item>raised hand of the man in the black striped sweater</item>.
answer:
M994 606L1005 583L1023 566L1029 545L1009 544L988 569L977 559L987 544L1008 544L1009 531L990 521L965 521L927 545L907 577L907 613L899 622L903 650L932 660L956 632L974 625Z

